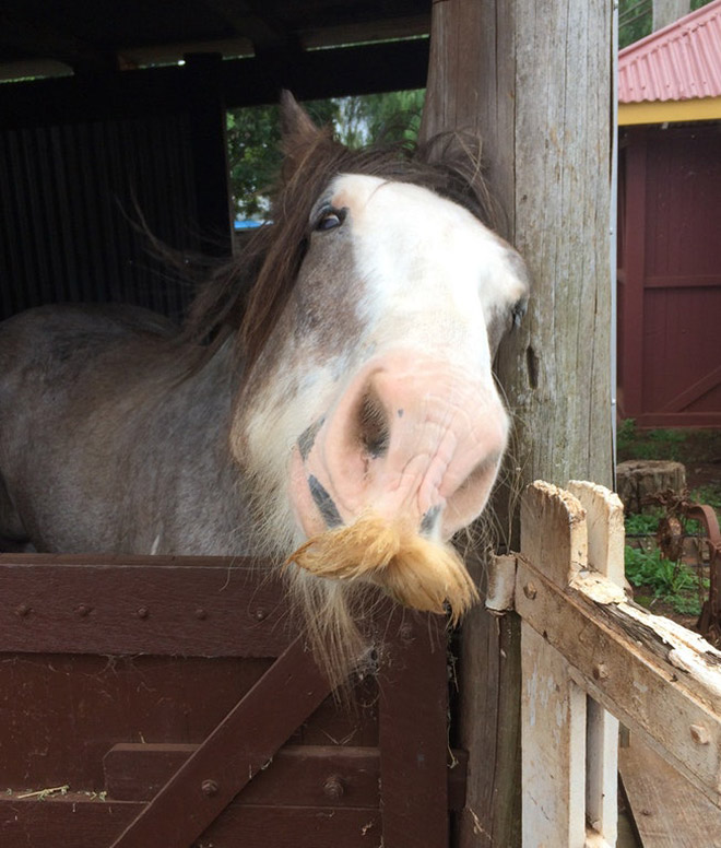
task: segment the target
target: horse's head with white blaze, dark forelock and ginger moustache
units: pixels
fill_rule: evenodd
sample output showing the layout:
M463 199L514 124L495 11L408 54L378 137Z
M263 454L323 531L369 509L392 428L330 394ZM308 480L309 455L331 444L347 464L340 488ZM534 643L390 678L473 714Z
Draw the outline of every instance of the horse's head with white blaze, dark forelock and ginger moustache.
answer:
M483 221L477 162L352 152L289 95L282 110L233 454L311 627L347 643L369 584L458 617L476 593L446 543L506 448L492 363L524 310L523 262Z

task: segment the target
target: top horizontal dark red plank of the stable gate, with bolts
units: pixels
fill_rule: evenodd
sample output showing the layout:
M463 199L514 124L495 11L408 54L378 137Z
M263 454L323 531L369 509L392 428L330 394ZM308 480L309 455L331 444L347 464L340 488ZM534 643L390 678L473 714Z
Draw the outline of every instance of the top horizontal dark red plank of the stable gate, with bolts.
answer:
M147 562L0 555L0 650L276 657L287 647L287 605L264 564Z

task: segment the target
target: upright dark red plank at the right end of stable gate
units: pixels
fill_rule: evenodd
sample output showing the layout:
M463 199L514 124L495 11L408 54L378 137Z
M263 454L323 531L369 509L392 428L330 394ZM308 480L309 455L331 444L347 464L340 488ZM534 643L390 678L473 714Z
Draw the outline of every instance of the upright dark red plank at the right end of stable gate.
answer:
M399 638L383 646L378 680L383 848L447 848L445 620L397 610L387 627Z

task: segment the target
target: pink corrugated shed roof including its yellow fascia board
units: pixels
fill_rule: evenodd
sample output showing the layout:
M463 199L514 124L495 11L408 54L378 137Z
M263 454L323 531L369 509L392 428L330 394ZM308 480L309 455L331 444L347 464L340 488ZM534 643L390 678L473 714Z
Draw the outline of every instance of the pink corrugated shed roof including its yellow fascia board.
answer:
M721 0L618 54L618 122L721 118Z

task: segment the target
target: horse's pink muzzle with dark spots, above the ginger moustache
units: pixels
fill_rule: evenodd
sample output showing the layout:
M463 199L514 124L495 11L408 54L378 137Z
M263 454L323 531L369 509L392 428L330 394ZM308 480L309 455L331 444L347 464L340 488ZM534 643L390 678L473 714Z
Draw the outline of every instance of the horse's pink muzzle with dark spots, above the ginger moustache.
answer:
M482 511L507 432L495 392L460 367L383 357L294 448L296 516L307 535L373 511L448 539Z

